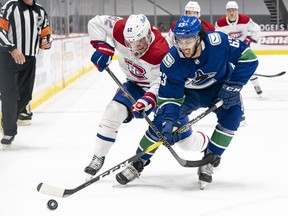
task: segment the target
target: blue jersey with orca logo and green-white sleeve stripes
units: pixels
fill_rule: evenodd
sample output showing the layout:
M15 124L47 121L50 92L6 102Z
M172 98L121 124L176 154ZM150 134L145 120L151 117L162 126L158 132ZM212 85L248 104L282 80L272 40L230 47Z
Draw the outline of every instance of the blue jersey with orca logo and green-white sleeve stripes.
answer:
M160 106L183 101L185 89L207 89L226 80L244 85L258 66L256 55L244 42L222 32L207 33L201 46L197 58L185 58L176 47L164 57L160 66Z

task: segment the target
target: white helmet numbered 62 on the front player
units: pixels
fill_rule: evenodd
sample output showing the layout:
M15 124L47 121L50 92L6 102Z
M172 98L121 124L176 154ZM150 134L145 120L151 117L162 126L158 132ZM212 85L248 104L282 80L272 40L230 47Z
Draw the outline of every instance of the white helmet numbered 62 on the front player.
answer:
M138 41L147 38L151 31L151 25L148 18L143 15L132 14L128 17L124 28L124 38L126 41Z

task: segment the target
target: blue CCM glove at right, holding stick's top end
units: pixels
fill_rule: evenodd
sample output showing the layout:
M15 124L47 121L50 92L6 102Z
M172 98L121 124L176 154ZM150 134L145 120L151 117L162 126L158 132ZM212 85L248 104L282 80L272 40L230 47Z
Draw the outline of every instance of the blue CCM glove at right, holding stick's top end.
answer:
M229 109L241 102L240 91L243 87L243 83L236 81L226 81L224 82L222 88L218 92L218 97L223 100L222 107L224 109Z

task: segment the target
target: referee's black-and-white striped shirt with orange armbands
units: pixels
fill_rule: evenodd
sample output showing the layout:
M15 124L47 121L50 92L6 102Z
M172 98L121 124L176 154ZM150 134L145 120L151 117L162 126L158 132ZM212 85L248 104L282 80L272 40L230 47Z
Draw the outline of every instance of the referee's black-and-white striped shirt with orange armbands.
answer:
M25 56L35 56L41 48L41 38L50 35L48 16L35 1L29 6L23 0L10 0L2 6L0 52L17 48Z

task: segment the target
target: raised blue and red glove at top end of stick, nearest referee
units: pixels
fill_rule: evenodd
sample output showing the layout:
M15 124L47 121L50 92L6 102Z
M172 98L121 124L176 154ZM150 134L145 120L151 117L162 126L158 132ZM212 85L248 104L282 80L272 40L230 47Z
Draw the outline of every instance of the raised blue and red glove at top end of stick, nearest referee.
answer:
M111 63L115 49L104 41L97 41L92 44L96 51L91 56L91 61L102 72Z

